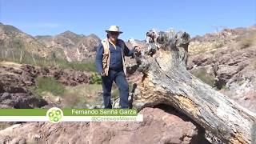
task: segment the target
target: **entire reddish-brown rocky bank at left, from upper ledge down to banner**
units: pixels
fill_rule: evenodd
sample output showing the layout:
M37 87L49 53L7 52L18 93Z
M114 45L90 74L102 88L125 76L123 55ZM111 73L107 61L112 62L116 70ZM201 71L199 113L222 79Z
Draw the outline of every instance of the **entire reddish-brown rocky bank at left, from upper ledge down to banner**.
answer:
M39 77L55 78L65 86L88 84L91 81L91 74L86 72L0 62L0 108L57 106L27 89L27 86L35 86Z

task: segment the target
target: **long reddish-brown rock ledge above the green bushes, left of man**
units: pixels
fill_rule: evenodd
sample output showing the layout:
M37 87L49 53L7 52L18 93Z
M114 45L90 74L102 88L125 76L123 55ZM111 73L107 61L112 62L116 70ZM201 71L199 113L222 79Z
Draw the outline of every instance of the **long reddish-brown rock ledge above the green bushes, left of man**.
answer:
M54 77L66 86L77 86L90 83L91 74L76 70L62 70L58 68L35 68L30 65L22 65L18 69L8 66L0 66L0 82L12 86L34 86L35 78ZM1 90L1 86L0 86Z

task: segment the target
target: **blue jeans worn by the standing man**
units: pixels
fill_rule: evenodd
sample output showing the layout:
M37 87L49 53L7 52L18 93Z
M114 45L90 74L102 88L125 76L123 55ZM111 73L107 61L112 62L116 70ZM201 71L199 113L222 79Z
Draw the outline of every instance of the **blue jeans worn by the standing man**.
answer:
M126 75L123 70L109 70L109 75L102 77L103 100L105 109L111 109L111 88L113 81L118 86L120 94L120 105L122 109L128 109L129 106L129 86L126 81Z

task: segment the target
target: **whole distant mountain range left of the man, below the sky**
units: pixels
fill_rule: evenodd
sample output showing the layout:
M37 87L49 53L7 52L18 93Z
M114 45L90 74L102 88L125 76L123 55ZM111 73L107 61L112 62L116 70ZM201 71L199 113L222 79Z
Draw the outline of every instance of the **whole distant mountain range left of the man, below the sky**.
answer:
M0 23L0 56L2 59L20 59L22 55L33 58L59 58L78 61L92 58L100 39L95 34L85 36L71 31L55 36L31 36L14 26Z

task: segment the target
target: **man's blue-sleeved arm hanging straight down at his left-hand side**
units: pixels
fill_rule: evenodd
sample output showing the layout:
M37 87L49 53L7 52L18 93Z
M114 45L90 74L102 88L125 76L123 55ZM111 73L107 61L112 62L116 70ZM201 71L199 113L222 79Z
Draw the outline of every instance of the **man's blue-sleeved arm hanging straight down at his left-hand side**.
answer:
M97 47L97 52L96 52L96 58L95 58L95 65L96 65L96 70L98 74L102 74L103 68L102 68L102 54L104 52L102 43Z

